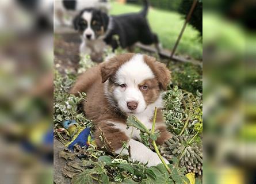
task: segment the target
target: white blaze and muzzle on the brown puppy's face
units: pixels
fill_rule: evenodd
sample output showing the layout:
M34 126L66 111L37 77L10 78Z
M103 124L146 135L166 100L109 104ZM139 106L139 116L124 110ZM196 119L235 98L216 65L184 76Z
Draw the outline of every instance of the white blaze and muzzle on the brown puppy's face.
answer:
M146 79L152 79L155 75L150 67L144 62L143 55L137 54L128 62L124 63L116 72L116 82L125 84L125 89L117 87L113 93L116 97L120 109L124 112L131 112L127 108L127 102L136 101L138 106L133 113L140 113L146 109L146 102L142 91L139 90L138 85Z

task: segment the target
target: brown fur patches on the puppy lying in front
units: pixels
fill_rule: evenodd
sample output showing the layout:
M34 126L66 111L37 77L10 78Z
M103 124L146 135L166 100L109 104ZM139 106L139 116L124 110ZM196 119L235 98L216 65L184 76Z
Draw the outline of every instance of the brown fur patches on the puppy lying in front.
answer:
M102 141L99 138L100 128L106 139L110 142L113 150L121 148L123 141L128 141L128 137L125 133L114 128L114 125L111 123L117 122L126 124L127 116L109 104L104 94L104 82L109 79L108 91L111 92L114 87L111 82L114 74L122 64L128 62L134 55L134 53L125 53L113 57L108 62L90 68L84 74L79 76L77 82L70 91L71 94L75 95L77 95L78 92L85 92L87 94L87 102L83 104L83 107L86 116L93 120L95 124L95 141L99 147L102 147ZM170 71L164 64L156 62L154 57L144 55L143 59L155 75L154 79L143 81L140 84L140 86L146 84L149 88L154 89L148 91L142 90L144 100L148 105L159 97L161 90L166 90L167 85L170 82ZM171 137L171 133L167 131L163 122L162 112L158 109L156 129L161 132L161 136L158 137L158 140L156 141L157 144L162 144L163 141Z

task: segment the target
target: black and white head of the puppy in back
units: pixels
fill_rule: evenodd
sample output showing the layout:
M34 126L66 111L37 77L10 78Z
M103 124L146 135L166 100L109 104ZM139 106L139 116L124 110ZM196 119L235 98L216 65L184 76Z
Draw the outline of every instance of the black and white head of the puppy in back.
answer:
M78 30L83 39L95 40L102 36L108 26L106 13L96 9L85 9L74 18L74 28Z

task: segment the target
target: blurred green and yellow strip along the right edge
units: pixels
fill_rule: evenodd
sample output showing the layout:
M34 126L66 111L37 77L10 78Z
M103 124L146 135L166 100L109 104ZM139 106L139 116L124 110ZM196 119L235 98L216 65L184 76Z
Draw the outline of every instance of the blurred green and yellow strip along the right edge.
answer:
M204 1L204 183L255 183L255 1Z

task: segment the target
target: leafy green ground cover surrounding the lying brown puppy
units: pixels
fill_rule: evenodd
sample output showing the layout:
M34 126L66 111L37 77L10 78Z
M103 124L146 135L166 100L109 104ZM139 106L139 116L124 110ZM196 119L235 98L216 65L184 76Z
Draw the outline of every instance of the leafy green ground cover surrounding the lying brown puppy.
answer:
M124 52L119 50L119 52ZM108 53L107 53L108 54ZM82 101L86 100L86 94L82 93L79 97L68 94L72 84L77 76L94 65L89 56L85 56L79 62L77 72L73 70L64 70L60 73L55 70L54 79L54 133L55 138L62 141L63 144L70 141L69 132L63 128L62 122L65 120L75 120L79 127L93 128L93 123L88 120L81 110ZM177 77L180 72L185 73L194 71L200 79L200 69L197 67L184 67L183 64L173 63L170 68L173 71L173 81L170 83L167 92L164 95L165 108L163 114L166 118L166 124L170 132L174 135L188 136L188 141L184 142L184 146L180 154L171 154L170 164L164 166L152 166L147 168L139 162L132 162L128 156L114 155L109 150L108 140L105 141L103 149L96 147L93 143L87 148L76 146L74 152L68 150L60 151L59 156L66 159L66 166L63 168L63 175L71 178L71 182L76 183L200 183L200 176L190 172L184 165L179 164L186 148L191 143L201 145L201 129L202 129L202 95L201 89L197 85L193 85L193 89L182 89L185 85L177 86L184 81ZM179 69L177 69L179 68ZM196 68L196 70L195 70ZM186 78L184 78L186 81ZM198 88L197 88L198 87ZM186 91L190 90L190 91ZM128 118L129 126L140 129L134 118ZM152 130L140 129L141 137L144 144L154 150L153 145L148 140L155 140L157 132ZM93 135L93 132L92 132ZM124 149L127 149L124 143ZM160 147L157 148L161 150ZM162 154L163 154L162 150ZM189 178L189 179L188 179Z

